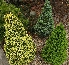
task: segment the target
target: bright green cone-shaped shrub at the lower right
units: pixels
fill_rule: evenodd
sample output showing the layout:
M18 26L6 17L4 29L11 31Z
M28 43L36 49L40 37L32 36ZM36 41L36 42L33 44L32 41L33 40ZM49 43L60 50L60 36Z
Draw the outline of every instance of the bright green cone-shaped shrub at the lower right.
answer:
M41 55L52 65L61 65L67 58L67 39L63 24L57 26L46 41Z

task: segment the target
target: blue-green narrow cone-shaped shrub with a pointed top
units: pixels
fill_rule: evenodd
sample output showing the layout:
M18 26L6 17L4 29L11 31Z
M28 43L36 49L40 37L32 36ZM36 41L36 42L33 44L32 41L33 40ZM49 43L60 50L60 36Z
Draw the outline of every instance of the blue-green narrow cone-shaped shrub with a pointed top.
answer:
M52 7L50 1L45 0L44 8L37 23L34 25L35 33L41 37L48 36L53 30Z

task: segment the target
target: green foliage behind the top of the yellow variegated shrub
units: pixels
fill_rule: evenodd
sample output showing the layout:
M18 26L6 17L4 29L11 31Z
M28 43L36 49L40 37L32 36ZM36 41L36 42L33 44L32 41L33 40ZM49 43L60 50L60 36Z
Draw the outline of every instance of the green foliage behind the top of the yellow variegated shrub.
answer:
M24 15L21 13L20 8L15 7L12 4L6 3L4 0L0 1L0 40L4 38L4 19L3 16L6 13L12 12L14 15L18 17L19 20L24 24L24 27L26 28L28 25L28 19L24 17Z

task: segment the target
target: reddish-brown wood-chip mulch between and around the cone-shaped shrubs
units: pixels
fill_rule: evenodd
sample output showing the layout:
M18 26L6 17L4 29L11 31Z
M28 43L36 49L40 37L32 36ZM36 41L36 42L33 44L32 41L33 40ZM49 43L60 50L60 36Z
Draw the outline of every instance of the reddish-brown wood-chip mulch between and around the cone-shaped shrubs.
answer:
M38 15L41 13L41 8L43 7L43 3L40 3L39 6L33 6L31 7L33 10L35 10ZM42 6L40 6L42 5ZM53 11L53 19L55 22L55 26L59 24L59 22L62 22L64 24L65 30L67 32L67 40L69 42L69 2L68 1L54 1L52 2L52 11ZM31 62L30 65L49 65L48 63L45 63L43 59L41 58L41 50L43 46L45 45L46 39L41 39L38 36L33 38L36 46L37 46L37 52L35 59ZM68 58L62 65L69 65L69 43L68 43Z

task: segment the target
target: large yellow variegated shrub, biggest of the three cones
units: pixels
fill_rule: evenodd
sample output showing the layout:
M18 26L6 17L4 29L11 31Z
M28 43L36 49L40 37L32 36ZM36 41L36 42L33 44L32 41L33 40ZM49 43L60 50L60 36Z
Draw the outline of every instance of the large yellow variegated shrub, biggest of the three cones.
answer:
M27 34L24 26L13 14L4 15L5 42L4 50L10 65L25 65L35 57L36 46L32 37Z

